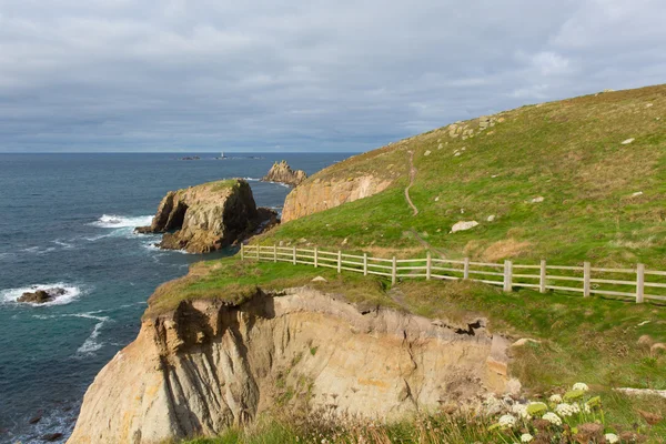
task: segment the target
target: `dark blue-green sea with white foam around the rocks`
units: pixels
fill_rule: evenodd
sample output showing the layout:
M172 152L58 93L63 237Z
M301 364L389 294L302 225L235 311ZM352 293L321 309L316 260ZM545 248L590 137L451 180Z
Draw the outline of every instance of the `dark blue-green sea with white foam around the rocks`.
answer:
M137 335L155 286L214 258L159 251L157 236L133 233L167 191L261 178L281 159L313 173L349 154L199 155L0 154L0 442L67 436L87 386ZM281 208L290 191L250 184L262 206ZM69 293L48 306L17 303L33 285Z

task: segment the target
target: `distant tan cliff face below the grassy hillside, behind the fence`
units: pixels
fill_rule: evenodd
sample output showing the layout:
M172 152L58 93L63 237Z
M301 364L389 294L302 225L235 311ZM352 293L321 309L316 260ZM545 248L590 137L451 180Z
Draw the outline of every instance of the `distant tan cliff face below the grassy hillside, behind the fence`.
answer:
M311 178L296 186L284 200L282 222L369 198L384 191L391 183L391 180L377 179L371 174L330 181Z

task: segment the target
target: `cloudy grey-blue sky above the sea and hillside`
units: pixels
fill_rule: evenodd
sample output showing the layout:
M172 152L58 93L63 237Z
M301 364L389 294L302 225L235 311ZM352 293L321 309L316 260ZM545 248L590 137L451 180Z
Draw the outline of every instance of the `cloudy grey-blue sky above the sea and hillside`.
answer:
M0 0L0 152L359 152L666 80L664 0Z

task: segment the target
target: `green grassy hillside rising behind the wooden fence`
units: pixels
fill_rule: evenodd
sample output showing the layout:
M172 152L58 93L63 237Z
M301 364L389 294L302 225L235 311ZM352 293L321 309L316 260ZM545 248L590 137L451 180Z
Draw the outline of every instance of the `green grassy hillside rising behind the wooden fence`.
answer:
M377 195L285 223L260 242L339 246L346 239L345 249L375 252L431 245L448 258L666 270L666 85L523 107L484 121L484 130L480 119L444 127L315 174L311 181L401 176ZM417 215L404 196L410 151ZM450 234L458 221L480 225Z

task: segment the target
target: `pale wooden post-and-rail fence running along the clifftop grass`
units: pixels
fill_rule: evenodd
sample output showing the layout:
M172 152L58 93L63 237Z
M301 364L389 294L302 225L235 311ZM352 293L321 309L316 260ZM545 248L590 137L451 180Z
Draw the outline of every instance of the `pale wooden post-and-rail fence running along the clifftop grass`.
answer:
M602 269L592 266L589 262L585 262L583 266L548 265L545 260L539 264L517 264L512 261L488 263L470 259L436 259L430 252L426 258L383 259L369 256L367 253L325 251L316 246L300 249L241 245L241 260L245 259L330 268L336 269L339 273L345 270L364 275L374 274L391 278L393 284L398 278L468 279L500 285L507 292L514 287L526 287L542 293L548 290L583 293L584 297L593 294L630 297L636 303L646 300L666 301L666 272L646 270L643 264L635 269Z

